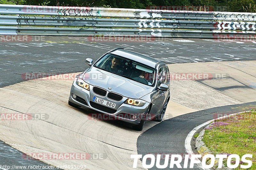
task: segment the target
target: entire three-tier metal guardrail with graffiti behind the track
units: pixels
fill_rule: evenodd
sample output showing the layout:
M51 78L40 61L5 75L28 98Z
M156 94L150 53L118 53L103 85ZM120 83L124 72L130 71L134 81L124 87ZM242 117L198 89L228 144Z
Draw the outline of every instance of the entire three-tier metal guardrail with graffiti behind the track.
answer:
M256 37L256 13L0 4L0 14L8 14L0 15L0 35Z

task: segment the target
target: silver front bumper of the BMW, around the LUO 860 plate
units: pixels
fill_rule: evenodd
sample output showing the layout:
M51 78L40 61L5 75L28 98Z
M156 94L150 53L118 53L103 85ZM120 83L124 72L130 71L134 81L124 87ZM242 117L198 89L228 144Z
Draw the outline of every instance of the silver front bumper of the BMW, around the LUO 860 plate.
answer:
M72 103L75 103L76 105L81 106L81 107L90 108L90 109L96 110L100 113L110 115L107 118L105 117L106 119L122 120L122 121L129 122L129 123L132 123L132 124L139 124L141 118L144 118L145 113L148 111L148 107L149 107L148 102L146 102L145 105L142 106L142 107L133 106L133 105L129 105L129 104L124 103L124 101L128 99L127 97L124 97L120 102L116 102L114 100L109 100L107 97L102 97L100 95L95 94L94 92L92 92L92 88L93 88L93 86L90 85L90 91L88 91L88 90L76 85L76 80L75 80L73 82L72 87L71 87L70 95L69 95L68 100ZM78 98L76 97L76 99L74 99L72 97L72 94L75 94L76 96L78 96ZM100 109L95 108L95 106L93 107L91 105L91 104L95 105L95 102L92 101L93 96L96 96L97 98L100 98L100 99L103 99L103 100L107 100L107 101L112 102L112 103L116 103L116 112L115 113L109 113L107 111L108 108L106 108L106 106L105 107L100 106L99 107ZM97 104L97 105L100 105L100 104ZM136 119L132 119L131 118L132 115L136 115L137 116ZM112 117L112 118L110 118L110 117Z

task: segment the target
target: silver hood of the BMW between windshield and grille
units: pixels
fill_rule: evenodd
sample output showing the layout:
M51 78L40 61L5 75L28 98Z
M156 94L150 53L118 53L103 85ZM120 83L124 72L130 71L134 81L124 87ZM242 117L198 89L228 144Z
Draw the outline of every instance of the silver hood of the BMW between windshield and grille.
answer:
M93 86L99 86L133 99L140 99L154 90L154 87L143 85L96 67L86 70L83 80ZM109 90L109 87L112 89Z

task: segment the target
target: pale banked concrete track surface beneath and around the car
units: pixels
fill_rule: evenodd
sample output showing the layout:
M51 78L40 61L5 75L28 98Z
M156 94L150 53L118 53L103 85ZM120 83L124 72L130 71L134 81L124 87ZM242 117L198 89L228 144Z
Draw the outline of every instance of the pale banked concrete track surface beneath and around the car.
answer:
M256 61L243 61L242 64L245 66L239 67L239 61L169 65L172 73L226 73L232 81L219 84L214 78L171 81L171 99L164 120L197 110L255 101L252 83L256 82L256 78L252 70L255 70ZM137 138L158 122L147 122L140 132L132 130L122 121L94 119L89 115L93 113L92 110L68 105L72 82L73 79L43 78L0 88L1 113L47 115L38 120L0 120L0 140L24 153L104 154L104 159L42 160L55 166L65 164L86 165L88 169L133 169L130 155L137 154ZM241 88L237 82L246 88ZM143 169L140 161L138 169Z

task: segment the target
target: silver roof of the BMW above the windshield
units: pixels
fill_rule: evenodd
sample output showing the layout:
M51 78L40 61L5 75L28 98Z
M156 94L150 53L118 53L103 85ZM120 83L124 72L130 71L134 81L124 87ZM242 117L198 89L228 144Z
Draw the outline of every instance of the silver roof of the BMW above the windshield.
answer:
M140 53L136 53L136 52L133 52L133 51L125 50L125 49L116 49L115 51L112 51L110 53L114 54L114 55L123 56L125 58L130 59L130 60L137 61L137 62L146 64L149 67L154 67L154 68L156 68L156 63L159 62L155 58L152 58L152 57L149 57L149 56L146 56L146 55L142 55Z

